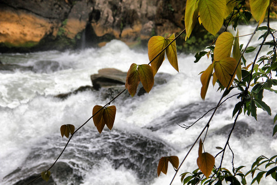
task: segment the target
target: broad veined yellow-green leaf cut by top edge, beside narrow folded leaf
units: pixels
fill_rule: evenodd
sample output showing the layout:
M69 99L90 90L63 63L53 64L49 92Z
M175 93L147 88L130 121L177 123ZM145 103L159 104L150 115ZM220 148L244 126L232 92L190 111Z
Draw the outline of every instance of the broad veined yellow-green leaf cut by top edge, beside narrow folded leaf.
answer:
M199 0L198 6L203 26L215 35L223 25L226 0Z

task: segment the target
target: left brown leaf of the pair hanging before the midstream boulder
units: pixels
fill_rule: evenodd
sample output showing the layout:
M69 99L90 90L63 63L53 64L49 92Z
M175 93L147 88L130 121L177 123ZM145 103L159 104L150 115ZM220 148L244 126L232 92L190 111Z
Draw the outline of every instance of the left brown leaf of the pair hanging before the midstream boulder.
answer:
M133 97L136 93L138 84L140 83L140 75L136 70L137 65L132 64L127 72L125 87L128 89L130 95Z

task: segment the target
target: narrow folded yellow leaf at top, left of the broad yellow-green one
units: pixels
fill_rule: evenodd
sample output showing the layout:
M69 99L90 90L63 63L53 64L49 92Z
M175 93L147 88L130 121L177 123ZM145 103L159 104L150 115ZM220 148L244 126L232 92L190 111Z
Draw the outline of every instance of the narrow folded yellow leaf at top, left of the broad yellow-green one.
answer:
M198 1L196 0L187 0L186 12L185 12L185 28L186 28L186 38L189 38L193 27L197 21L198 16Z

